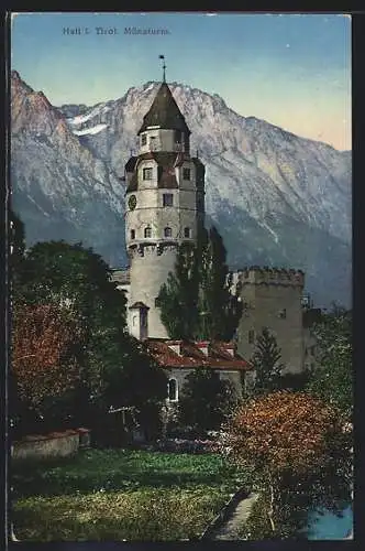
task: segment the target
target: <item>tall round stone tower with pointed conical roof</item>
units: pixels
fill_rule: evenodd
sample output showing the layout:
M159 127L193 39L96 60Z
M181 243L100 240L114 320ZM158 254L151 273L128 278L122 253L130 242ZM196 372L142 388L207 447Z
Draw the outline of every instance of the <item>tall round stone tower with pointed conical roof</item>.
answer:
M168 337L157 296L178 246L197 242L204 224L204 165L190 156L190 133L164 79L125 164L129 331L141 339Z

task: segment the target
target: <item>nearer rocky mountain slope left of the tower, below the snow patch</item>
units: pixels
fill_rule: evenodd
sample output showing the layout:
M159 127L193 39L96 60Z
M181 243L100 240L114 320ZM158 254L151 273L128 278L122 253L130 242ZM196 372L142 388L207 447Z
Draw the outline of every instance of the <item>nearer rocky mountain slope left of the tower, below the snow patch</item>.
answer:
M11 79L12 204L27 245L82 241L110 264L125 256L124 184L73 133L63 114L16 72Z

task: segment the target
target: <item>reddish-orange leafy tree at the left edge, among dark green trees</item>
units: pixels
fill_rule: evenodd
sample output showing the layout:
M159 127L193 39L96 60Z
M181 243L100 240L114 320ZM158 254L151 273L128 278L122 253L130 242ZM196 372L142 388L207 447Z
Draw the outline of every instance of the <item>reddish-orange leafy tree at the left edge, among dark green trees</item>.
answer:
M13 310L12 368L21 400L42 410L46 398L74 389L77 327L62 309L16 305Z

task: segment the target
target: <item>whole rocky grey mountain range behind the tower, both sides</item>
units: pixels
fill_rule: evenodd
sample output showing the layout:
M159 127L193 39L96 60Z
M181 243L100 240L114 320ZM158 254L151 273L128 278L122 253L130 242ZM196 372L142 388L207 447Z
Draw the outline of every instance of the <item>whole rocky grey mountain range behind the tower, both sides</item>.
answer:
M208 224L229 263L301 268L319 305L350 304L351 152L242 117L217 95L173 83L206 164ZM121 176L157 83L96 106L52 106L12 74L12 187L29 242L81 240L124 266Z

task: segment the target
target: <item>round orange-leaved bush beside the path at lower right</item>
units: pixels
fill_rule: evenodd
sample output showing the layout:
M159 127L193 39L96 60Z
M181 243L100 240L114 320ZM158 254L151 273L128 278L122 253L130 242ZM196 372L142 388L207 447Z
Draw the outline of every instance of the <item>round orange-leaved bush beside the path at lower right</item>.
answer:
M296 532L313 504L349 499L351 435L322 400L288 391L257 397L237 410L228 432L232 456L268 496L274 536Z

